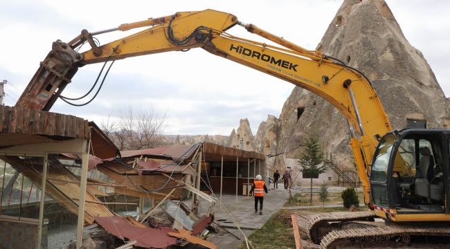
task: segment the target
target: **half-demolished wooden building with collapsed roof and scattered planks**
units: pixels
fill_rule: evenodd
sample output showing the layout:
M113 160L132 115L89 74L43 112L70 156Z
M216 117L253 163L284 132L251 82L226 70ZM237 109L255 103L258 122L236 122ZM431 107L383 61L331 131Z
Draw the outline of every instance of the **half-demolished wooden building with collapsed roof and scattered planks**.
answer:
M264 155L210 143L118 151L96 124L46 111L0 107L0 128L2 248L215 248L205 239L219 229L211 227L217 168L241 161L246 184L265 170Z

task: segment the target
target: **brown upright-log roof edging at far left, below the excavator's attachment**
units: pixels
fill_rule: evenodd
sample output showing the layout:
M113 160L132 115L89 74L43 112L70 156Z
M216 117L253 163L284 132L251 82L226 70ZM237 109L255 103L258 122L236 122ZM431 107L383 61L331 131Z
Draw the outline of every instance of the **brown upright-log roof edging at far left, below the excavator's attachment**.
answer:
M87 139L89 124L87 120L71 115L0 105L0 133Z

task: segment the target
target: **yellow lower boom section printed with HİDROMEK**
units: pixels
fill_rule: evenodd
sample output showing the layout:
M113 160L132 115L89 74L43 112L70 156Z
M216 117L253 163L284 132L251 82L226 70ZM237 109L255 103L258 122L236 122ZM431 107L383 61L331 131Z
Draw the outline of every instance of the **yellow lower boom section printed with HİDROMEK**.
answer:
M343 87L344 80L352 80L350 88L353 89L354 97L359 104L359 113L370 150L375 151L378 144L374 138L375 134L390 131L386 113L374 89L349 68L221 36L212 39L212 43L215 45L214 50L206 46L203 48L316 93L339 109L354 127L359 127L348 89ZM322 81L323 75L330 77L330 81L326 84Z

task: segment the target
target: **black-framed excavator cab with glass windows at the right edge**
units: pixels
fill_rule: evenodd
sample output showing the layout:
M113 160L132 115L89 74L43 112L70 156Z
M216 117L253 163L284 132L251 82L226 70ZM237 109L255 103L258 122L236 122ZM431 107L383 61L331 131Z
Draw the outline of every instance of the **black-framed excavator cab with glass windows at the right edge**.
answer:
M403 129L379 139L372 205L397 214L448 214L450 131Z

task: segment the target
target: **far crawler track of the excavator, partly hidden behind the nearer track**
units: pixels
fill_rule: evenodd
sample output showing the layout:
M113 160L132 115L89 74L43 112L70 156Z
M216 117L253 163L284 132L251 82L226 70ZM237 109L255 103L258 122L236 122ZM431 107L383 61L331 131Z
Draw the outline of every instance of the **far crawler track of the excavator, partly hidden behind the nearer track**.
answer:
M322 234L332 229L329 222L333 221L372 221L377 217L373 212L330 212L312 215L297 214L298 228L308 234L311 241L321 243Z

